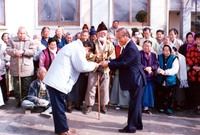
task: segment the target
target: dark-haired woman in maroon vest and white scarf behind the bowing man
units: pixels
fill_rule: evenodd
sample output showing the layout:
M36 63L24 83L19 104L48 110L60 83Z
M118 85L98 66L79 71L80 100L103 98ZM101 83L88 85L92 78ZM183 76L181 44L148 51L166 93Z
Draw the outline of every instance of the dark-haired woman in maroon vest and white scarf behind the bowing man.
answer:
M49 69L52 61L56 57L57 52L60 50L60 48L57 47L57 44L57 39L49 38L48 47L40 54L39 67L45 67L46 70Z

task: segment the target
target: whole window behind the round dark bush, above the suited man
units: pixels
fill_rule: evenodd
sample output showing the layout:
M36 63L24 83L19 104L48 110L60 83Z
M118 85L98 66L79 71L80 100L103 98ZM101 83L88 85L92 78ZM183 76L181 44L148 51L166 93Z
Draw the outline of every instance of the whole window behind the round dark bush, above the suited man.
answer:
M147 23L149 24L149 1L150 0L113 0L114 3L114 20L119 20L121 24L141 25L135 19L138 11L147 11Z

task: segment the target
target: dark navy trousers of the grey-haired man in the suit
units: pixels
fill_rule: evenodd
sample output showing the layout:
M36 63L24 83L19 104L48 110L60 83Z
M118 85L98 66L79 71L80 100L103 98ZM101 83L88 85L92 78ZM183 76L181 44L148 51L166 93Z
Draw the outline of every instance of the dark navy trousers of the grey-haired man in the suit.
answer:
M142 96L144 93L144 86L141 83L136 89L129 90L130 101L128 109L128 122L125 127L126 131L135 132L136 129L142 129Z

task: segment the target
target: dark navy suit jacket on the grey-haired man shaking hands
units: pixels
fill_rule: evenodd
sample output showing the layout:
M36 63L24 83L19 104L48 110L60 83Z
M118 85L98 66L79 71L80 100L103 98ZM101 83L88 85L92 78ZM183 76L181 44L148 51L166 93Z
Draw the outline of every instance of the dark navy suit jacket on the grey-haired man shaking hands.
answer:
M119 81L122 90L136 89L141 83L143 83L143 86L146 85L140 53L132 40L127 43L118 58L110 60L108 66L111 70L119 69Z

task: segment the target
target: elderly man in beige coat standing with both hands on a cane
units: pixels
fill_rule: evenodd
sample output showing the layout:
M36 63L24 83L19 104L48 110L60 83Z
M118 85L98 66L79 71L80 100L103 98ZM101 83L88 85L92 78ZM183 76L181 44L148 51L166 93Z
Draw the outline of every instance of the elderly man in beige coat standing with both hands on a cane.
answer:
M21 107L21 100L28 95L28 89L34 74L33 56L36 47L27 35L26 28L18 28L17 36L8 41L6 49L10 58L10 74L13 76L13 85L17 108Z

